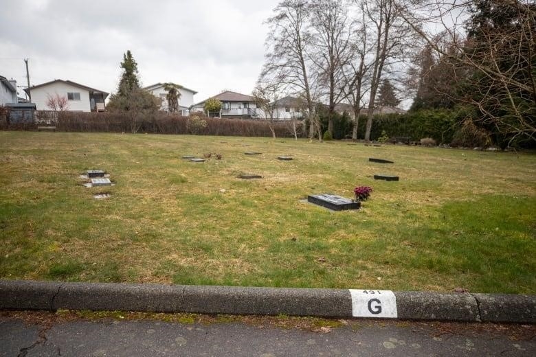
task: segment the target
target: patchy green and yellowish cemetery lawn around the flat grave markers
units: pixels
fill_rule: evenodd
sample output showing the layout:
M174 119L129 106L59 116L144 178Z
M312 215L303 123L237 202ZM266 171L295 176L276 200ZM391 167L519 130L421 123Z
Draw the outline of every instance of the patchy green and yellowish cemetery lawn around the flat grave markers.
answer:
M358 211L302 201L357 185ZM535 294L536 154L0 132L0 242L1 279Z

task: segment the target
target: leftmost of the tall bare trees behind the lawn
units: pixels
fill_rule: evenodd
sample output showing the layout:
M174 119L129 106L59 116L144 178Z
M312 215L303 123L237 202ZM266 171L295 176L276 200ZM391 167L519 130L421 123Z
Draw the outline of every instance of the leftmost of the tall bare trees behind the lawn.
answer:
M279 82L287 92L303 92L308 107L309 137L320 128L314 115L313 78L309 73L311 34L307 31L310 3L307 0L284 0L273 10L267 23L267 54L259 82ZM320 136L320 140L322 136Z

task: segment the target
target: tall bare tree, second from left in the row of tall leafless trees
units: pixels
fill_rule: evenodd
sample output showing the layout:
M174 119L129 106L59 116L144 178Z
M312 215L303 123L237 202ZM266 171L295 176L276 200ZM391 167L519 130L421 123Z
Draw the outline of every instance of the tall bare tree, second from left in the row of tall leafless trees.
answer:
M333 135L333 113L346 93L344 66L350 61L350 32L346 0L320 0L312 6L311 23L315 41L313 62L326 86L328 132Z

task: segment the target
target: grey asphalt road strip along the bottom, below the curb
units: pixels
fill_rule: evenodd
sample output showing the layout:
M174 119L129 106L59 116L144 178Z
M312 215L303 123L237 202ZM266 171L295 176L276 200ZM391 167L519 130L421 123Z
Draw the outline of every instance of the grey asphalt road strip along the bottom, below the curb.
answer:
M535 325L56 316L1 312L0 356L536 356Z

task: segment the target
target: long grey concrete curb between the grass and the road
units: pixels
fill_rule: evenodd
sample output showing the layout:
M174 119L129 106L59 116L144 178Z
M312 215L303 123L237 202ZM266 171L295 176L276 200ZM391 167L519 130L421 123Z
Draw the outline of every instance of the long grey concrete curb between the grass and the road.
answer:
M0 310L58 309L536 323L536 295L0 280Z

